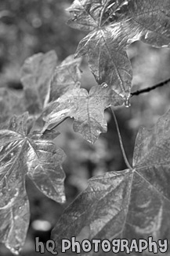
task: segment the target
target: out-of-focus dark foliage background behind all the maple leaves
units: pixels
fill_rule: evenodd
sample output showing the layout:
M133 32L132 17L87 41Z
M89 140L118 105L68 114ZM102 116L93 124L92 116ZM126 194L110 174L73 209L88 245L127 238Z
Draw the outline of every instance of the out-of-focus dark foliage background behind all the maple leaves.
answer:
M75 31L66 24L69 13L65 9L71 0L1 0L0 2L0 115L3 115L1 102L4 100L2 90L8 87L11 93L20 94L20 67L24 60L38 52L56 50L60 61L69 54L74 54L78 42L85 35ZM132 91L150 87L170 77L170 50L155 49L136 42L128 48L132 62ZM82 87L88 90L96 81L89 72L84 58L81 65ZM152 127L157 118L169 108L170 84L157 88L150 93L133 96L132 106L116 108L125 151L132 163L132 153L136 133L140 125ZM10 106L10 99L6 98ZM31 224L27 234L22 255L34 253L34 238L40 237L45 242L50 238L52 227L59 220L67 205L87 186L87 180L95 175L113 170L125 169L121 155L113 118L106 111L108 132L90 145L73 132L72 121L60 125L61 135L56 144L67 154L63 169L67 174L67 203L60 205L41 192L27 179L27 193L31 204ZM0 255L11 255L9 250L0 245ZM46 253L48 255L48 253Z

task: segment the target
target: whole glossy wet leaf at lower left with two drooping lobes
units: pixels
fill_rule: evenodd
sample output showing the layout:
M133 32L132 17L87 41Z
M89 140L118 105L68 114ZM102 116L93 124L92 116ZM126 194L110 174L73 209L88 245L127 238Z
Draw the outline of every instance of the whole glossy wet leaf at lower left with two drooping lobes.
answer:
M29 225L26 174L46 196L65 201L64 153L51 141L58 133L28 134L27 119L27 113L14 116L9 128L0 130L0 241L16 254L24 245Z

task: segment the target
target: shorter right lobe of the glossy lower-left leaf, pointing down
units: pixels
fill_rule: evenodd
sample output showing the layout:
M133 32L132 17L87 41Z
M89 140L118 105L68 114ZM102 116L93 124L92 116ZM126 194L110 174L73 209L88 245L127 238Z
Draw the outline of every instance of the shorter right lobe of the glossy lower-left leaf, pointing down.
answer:
M56 134L58 135L58 132ZM39 135L36 133L31 136L34 143L29 139L32 148L27 175L34 181L38 189L49 198L56 202L65 202L63 186L65 175L62 169L65 154L45 136L40 137L41 135L41 133Z

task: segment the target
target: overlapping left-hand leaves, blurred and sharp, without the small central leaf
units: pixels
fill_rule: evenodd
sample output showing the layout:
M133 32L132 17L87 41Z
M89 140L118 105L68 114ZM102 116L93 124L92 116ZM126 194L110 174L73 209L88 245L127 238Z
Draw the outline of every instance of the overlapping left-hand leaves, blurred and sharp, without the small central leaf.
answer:
M36 128L45 102L55 95L55 86L57 94L62 95L63 85L67 91L80 78L80 60L70 56L61 65L56 65L56 60L54 51L28 58L21 70L24 92L20 97L1 91L0 241L15 254L24 245L30 221L25 176L49 198L65 202L65 154L52 142L60 133L42 133Z

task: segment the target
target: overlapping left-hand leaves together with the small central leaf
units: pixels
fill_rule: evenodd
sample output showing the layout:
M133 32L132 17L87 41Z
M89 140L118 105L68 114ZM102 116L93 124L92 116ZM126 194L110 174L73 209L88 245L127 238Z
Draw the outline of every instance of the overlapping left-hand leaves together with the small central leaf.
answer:
M57 65L54 51L35 54L21 70L20 97L1 92L0 240L13 253L24 245L30 218L25 176L49 198L65 200L64 153L52 142L59 132L48 130L49 125L74 117L74 131L94 143L100 132L107 132L104 109L123 102L105 84L92 87L90 93L80 88L80 63L71 55ZM42 117L46 123L41 131L37 127L44 123Z

